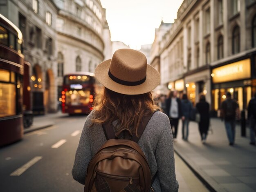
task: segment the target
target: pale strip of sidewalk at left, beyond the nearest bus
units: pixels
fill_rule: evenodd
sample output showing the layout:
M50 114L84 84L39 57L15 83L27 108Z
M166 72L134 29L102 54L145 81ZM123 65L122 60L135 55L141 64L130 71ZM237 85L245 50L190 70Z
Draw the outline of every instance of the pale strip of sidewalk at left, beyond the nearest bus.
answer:
M67 114L63 114L61 113L61 111L58 111L57 113L48 113L46 115L34 116L32 126L30 126L29 128L25 128L24 134L53 126L55 124L54 119L62 116L67 116Z

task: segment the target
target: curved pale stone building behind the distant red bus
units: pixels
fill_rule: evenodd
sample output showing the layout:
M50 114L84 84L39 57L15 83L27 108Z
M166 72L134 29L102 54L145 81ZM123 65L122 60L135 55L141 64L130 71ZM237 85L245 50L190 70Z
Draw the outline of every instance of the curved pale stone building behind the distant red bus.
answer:
M94 73L96 66L109 57L110 31L106 10L100 0L55 0L58 54L58 94L63 75L77 71Z

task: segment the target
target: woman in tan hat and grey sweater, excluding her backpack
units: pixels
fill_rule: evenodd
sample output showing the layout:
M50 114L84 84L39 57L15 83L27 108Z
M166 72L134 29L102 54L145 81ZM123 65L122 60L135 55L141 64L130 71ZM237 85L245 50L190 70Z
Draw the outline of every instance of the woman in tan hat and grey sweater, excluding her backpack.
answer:
M143 53L132 49L119 49L112 59L97 66L95 77L104 86L104 93L97 95L94 110L85 121L72 169L73 178L82 184L85 184L90 160L105 142L112 142L112 140L121 142L121 139L137 137L138 130L141 130L139 127L141 119L159 109L154 104L150 91L159 84L160 75L155 68L147 64ZM106 141L106 136L109 135L106 133L105 125L110 126L112 129L110 132L113 132L114 138L118 137L118 140ZM123 130L126 131L123 132ZM155 112L137 143L148 161L150 177L155 178L153 190L177 192L179 185L175 176L173 136L168 117L160 111ZM116 161L116 163L119 162L118 159ZM121 166L129 166L130 163L121 164ZM106 169L115 170L111 168L113 167L107 166ZM141 171L138 169L138 172ZM97 179L96 173L93 177ZM99 176L98 182L103 182L102 175ZM106 188L108 188L108 182L113 180L104 180L103 184ZM130 179L132 187L133 183L135 182ZM122 187L120 184L115 184L117 188L120 186ZM119 191L135 191L135 189Z

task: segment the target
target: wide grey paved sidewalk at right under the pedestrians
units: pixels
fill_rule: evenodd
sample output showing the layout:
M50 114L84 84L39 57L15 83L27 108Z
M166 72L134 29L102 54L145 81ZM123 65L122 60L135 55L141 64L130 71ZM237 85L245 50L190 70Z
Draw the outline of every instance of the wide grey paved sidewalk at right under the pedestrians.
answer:
M234 146L229 146L224 122L211 119L211 128L206 144L202 144L195 122L189 124L189 141L182 140L180 121L175 152L211 191L254 192L256 191L256 147L249 145L247 137L241 137L240 126L236 127Z

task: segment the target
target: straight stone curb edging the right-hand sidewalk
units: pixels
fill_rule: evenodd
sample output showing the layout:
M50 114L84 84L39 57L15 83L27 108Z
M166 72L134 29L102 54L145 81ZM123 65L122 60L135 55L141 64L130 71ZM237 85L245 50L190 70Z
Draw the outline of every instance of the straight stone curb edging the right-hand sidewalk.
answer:
M175 153L184 161L189 169L211 192L227 192L220 184L216 183L211 177L204 173L199 166L195 165L189 158L185 158L179 150L174 149Z

